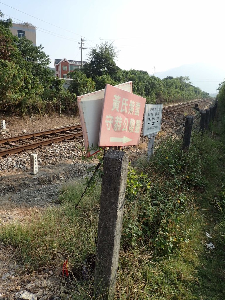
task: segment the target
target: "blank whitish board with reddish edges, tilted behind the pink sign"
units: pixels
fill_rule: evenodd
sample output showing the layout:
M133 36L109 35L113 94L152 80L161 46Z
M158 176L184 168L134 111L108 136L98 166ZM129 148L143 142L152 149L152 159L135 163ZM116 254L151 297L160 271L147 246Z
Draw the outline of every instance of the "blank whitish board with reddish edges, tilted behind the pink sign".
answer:
M116 85L116 87L132 93L132 81ZM90 149L87 157L98 152L96 148L98 147L104 94L105 89L102 89L77 97L84 145L86 151Z

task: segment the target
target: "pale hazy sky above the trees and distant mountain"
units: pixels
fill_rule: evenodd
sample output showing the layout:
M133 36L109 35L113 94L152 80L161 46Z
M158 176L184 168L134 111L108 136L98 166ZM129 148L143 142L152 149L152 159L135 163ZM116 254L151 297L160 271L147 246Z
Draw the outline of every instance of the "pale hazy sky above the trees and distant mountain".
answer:
M52 60L81 60L85 47L114 41L117 65L150 74L183 64L205 62L224 70L223 0L0 0L5 17L35 25L37 45ZM29 15L28 16L22 12ZM48 31L47 31L48 30ZM47 32L47 33L46 33ZM88 49L83 52L85 60ZM157 73L156 73L157 75Z

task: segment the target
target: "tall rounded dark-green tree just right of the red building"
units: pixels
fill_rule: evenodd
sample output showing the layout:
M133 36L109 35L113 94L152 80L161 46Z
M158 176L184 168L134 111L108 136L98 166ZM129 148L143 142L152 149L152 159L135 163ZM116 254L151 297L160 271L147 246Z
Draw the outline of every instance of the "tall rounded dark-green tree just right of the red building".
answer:
M88 63L83 66L83 72L93 79L106 74L112 76L119 70L114 61L116 53L116 47L112 42L101 43L92 48L88 55Z

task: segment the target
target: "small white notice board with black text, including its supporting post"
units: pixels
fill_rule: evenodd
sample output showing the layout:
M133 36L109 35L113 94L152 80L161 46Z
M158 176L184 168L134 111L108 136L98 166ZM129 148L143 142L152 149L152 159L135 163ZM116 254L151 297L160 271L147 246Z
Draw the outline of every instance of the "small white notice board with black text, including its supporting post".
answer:
M148 160L153 155L155 135L161 129L163 104L146 104L143 135L148 136Z

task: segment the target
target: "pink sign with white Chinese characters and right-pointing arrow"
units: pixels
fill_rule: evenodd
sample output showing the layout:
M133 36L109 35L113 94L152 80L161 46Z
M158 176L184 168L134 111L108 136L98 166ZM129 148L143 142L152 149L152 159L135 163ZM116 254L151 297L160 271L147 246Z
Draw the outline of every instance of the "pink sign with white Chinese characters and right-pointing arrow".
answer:
M139 145L146 99L107 84L99 146Z

